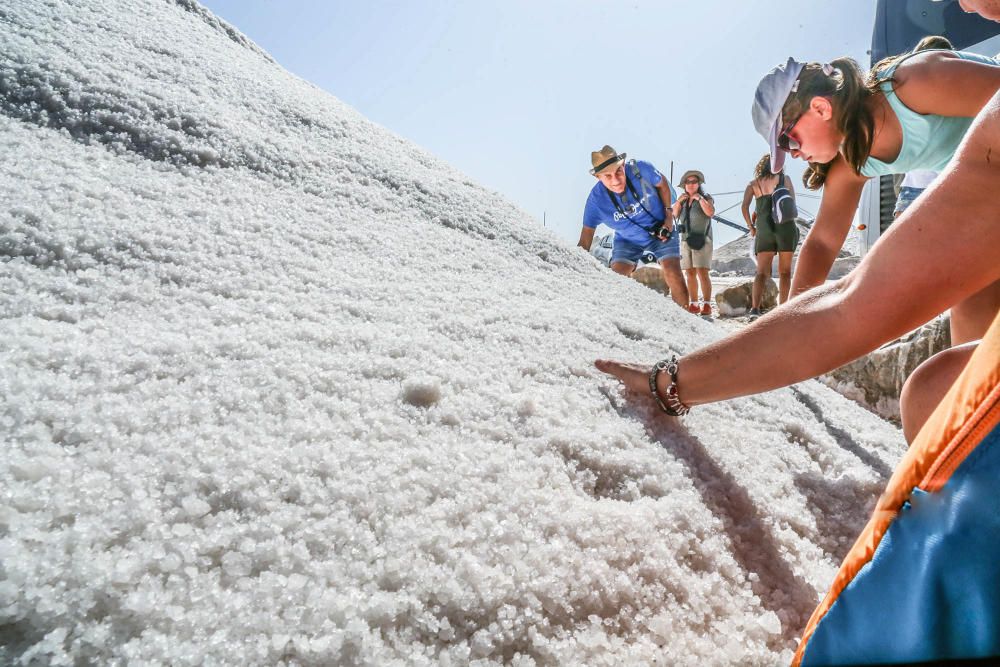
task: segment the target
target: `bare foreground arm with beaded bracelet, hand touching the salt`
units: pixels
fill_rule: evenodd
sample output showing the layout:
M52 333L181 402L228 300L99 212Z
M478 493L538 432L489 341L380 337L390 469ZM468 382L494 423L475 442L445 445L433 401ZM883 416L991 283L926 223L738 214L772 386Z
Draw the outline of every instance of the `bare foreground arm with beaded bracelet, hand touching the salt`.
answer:
M803 294L742 331L686 355L680 398L709 403L832 370L1000 280L1000 94L938 181L845 278ZM649 365L597 367L649 394ZM666 374L659 375L660 390Z

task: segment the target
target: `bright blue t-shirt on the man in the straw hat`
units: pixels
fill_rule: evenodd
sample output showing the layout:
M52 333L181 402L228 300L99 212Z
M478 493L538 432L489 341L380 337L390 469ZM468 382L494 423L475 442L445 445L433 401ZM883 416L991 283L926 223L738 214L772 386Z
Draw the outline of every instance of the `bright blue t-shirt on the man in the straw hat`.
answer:
M666 219L669 213L664 210L660 193L654 187L664 180L663 174L656 167L642 160L635 160L635 166L639 168L642 178L635 177L631 160L625 164L625 175L636 194L639 195L642 205L640 206L639 202L632 196L632 191L627 186L625 192L618 195L604 187L603 183L598 182L590 191L590 196L587 197L587 205L583 209L583 226L595 229L597 225L604 223L615 230L615 238L646 246L653 240L646 229ZM673 202L677 195L670 183L667 183L667 187L670 189L670 201ZM615 202L622 211L628 214L627 218L618 210ZM643 210L643 207L646 210ZM631 222L629 218L631 218ZM640 229L640 227L644 229Z

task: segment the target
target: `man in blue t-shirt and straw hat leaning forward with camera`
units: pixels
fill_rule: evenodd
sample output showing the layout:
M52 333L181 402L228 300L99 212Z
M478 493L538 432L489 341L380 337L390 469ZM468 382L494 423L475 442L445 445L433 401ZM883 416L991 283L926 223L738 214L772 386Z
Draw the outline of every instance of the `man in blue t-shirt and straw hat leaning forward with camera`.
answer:
M590 173L600 182L587 198L578 245L589 252L597 226L604 223L611 227L615 230L611 270L631 275L643 253L653 253L670 296L686 309L688 291L681 274L680 241L670 212L673 188L650 163L626 162L625 157L611 146L590 154Z

